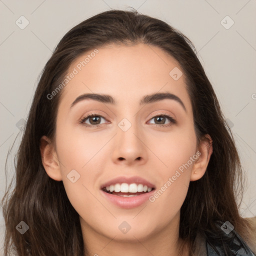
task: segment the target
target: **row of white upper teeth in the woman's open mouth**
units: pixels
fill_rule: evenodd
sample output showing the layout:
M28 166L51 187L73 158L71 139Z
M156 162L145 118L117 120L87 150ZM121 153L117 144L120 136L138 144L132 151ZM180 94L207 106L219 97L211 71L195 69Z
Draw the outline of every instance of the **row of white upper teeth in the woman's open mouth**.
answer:
M110 192L122 192L122 193L136 193L136 192L150 192L152 190L152 187L147 187L147 185L143 184L136 184L136 183L116 183L110 186L106 186L106 190ZM131 195L133 196L133 195Z

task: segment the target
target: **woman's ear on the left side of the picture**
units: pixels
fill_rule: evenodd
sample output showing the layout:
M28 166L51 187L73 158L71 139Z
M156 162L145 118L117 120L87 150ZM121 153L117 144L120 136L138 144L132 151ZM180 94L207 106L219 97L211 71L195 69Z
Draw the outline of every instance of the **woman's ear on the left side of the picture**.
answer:
M48 176L57 181L62 180L60 164L54 145L46 136L42 136L40 139L40 152L42 165Z

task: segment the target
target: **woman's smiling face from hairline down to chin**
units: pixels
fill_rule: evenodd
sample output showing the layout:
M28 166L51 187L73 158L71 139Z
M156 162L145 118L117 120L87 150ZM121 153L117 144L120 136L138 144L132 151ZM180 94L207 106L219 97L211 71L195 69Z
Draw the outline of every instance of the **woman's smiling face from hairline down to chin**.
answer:
M181 67L160 48L97 50L69 68L75 74L62 88L56 117L57 164L45 169L63 181L84 230L143 240L177 223L189 181L204 173L196 167L192 107ZM114 103L86 93L107 94ZM113 188L114 194L103 191Z

